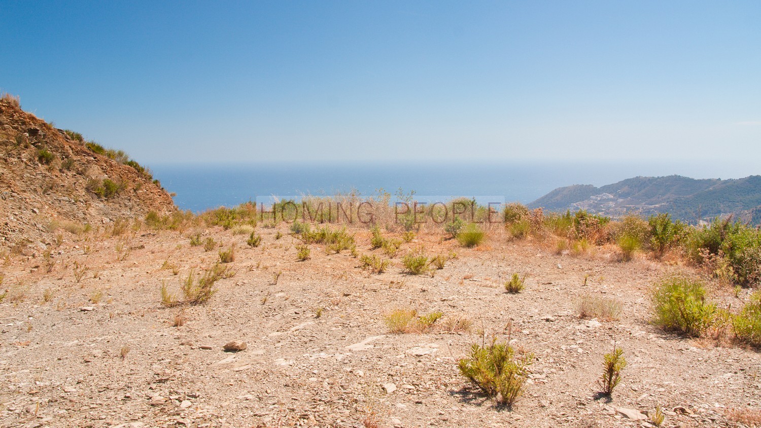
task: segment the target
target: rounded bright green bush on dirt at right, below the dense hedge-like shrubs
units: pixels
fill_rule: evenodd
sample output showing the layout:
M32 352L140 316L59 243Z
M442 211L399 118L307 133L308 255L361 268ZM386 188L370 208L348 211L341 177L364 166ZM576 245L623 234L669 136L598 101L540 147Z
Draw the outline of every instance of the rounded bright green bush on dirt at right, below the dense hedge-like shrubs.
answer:
M666 331L700 336L714 322L716 305L705 301L702 282L671 276L657 284L652 295L653 322Z

